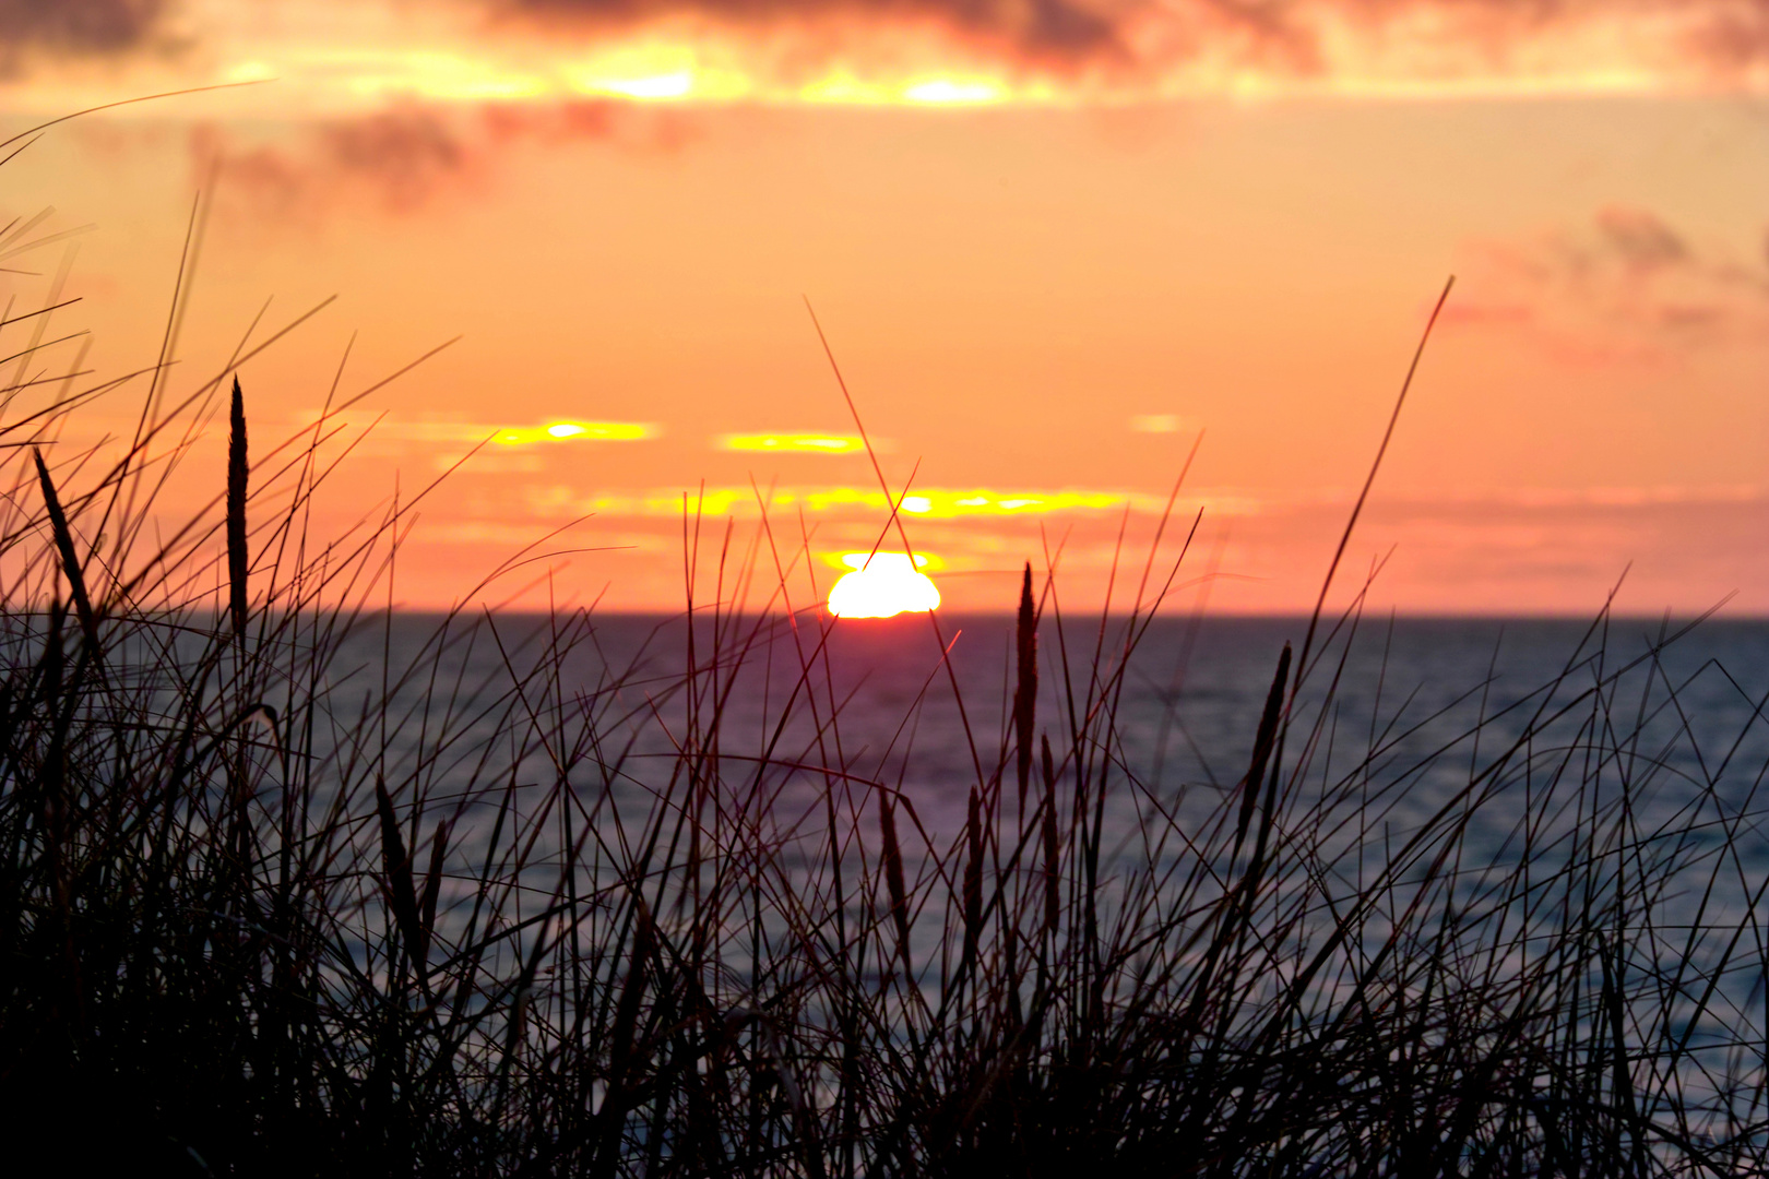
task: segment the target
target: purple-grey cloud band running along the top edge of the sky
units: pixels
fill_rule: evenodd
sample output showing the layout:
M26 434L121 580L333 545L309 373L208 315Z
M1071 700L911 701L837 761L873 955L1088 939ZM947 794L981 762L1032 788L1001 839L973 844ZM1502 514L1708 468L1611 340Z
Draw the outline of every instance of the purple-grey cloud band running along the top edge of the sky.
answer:
M78 57L165 64L173 41L198 49L180 60L207 67L274 62L276 46L253 41L265 35L253 18L264 0L228 4L212 11L239 18L232 34L186 19L173 39L173 18L198 12L186 0L0 0L0 76ZM1769 88L1769 0L304 0L287 14L336 35L333 25L356 25L324 11L364 4L386 18L377 37L396 41L400 16L423 18L410 21L414 46L446 28L486 60L704 37L709 60L747 80L739 90L770 95L830 74L900 81L943 69L1081 97L1244 83Z

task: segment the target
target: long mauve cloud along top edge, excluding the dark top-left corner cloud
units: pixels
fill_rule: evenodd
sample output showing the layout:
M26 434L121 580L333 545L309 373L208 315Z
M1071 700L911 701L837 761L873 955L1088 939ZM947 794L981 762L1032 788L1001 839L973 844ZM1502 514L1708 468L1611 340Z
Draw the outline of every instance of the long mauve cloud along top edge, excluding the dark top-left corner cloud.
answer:
M1104 90L1650 90L1769 83L1769 0L478 0L494 27L603 42L748 39L775 81L971 67ZM902 60L913 32L927 60ZM945 41L946 51L936 42ZM780 51L782 44L791 48Z

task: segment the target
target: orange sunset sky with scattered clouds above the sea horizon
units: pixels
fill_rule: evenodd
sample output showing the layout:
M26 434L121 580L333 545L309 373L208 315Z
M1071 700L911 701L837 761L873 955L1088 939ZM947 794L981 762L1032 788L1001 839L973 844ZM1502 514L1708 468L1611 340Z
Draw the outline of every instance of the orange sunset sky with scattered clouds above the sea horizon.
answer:
M1330 605L1769 613L1765 0L0 0L0 138L172 90L5 148L4 354L370 391L405 606L1307 612L1454 276Z

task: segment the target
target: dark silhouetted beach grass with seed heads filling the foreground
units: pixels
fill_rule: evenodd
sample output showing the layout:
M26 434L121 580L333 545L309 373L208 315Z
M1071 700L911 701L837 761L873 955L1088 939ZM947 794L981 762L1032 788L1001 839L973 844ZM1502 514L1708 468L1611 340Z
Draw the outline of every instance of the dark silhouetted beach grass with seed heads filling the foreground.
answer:
M225 490L173 527L156 488L223 392ZM697 622L587 679L584 612L449 615L402 647L370 605L409 506L306 532L329 417L248 463L237 385L154 392L104 465L46 445L80 403L0 424L19 1165L1769 1167L1764 765L1725 753L1760 748L1762 702L1716 760L1658 652L1619 666L1603 619L1562 675L1435 749L1371 725L1348 753L1352 613L1270 652L1245 774L1183 795L1120 728L1171 571L1065 624L1028 567L1001 730L973 730L955 679L906 716L906 741L936 709L971 734L946 838L890 758L842 741L835 624L789 594L803 544L764 529L743 569L690 573L716 582ZM731 608L759 571L759 610ZM463 679L486 650L502 673ZM761 721L738 707L757 666L785 686ZM1507 836L1472 841L1495 808Z

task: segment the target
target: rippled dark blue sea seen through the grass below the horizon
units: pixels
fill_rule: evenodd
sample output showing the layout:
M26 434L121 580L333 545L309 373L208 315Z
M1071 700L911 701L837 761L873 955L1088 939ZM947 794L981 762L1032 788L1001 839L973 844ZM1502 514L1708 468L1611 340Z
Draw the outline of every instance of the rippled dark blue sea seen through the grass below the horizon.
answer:
M1028 1068L1107 1029L1152 1099L1283 1052L1378 1108L1399 1053L1760 1144L1769 622L1047 612L1024 792L1012 619L262 622L106 650L81 813L134 799L216 946L299 909L327 1034L435 1018L474 1092L520 1045L596 1108L616 1008L750 1029L816 1108L1035 1020Z

